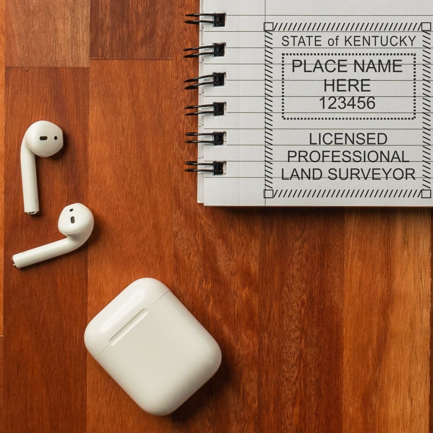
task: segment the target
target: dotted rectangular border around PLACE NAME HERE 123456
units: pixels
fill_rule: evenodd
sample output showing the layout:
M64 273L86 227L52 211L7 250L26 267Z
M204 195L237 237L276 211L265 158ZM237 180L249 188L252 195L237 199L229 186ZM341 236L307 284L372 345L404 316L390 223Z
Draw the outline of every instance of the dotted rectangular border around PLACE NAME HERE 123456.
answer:
M285 117L284 113L284 67L285 62L284 58L286 55L311 55L311 56L321 56L321 55L341 55L341 56L350 56L350 55L380 55L380 56L395 56L395 55L413 55L414 56L414 116L413 117ZM282 118L284 120L415 120L417 118L417 55L416 53L283 53L281 58L282 71L281 71L281 80L282 80L282 91L281 91L281 111Z

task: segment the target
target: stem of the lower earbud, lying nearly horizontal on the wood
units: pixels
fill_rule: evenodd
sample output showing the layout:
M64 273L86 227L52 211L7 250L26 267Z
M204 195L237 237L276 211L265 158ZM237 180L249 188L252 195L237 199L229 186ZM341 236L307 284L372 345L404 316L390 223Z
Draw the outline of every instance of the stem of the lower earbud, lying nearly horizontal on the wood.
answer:
M87 239L85 239L87 240ZM84 242L85 242L84 240ZM67 254L74 251L84 242L79 242L71 238L61 239L56 242L51 242L47 245L38 246L28 251L20 252L13 255L12 262L16 268L24 268L25 266L43 262L44 260L52 259L58 255Z

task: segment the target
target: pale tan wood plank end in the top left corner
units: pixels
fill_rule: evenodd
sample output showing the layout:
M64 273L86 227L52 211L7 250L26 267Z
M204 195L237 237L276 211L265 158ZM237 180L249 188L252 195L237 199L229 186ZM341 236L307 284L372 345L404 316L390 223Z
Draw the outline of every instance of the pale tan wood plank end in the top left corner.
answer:
M90 0L6 0L6 66L89 65Z

